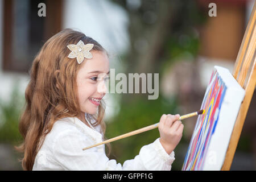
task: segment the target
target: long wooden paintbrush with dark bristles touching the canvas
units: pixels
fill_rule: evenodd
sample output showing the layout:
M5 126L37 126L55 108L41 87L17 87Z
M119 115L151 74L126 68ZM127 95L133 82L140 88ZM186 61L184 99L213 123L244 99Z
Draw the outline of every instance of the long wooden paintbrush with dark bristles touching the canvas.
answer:
M205 112L205 110L203 109L203 110L199 110L199 111L196 111L196 112L193 112L193 113L181 115L181 117L179 119L177 119L177 120L183 120L183 119L187 119L187 118L193 117L195 115L204 114L204 112ZM131 131L129 133L126 133L126 134L123 134L123 135L119 135L118 137L114 137L114 138L105 140L104 142L97 143L97 144L94 144L92 146L82 148L82 150L86 150L88 148L96 147L96 146L99 146L101 144L110 143L110 142L113 142L115 140L119 140L119 139L122 139L122 138L130 137L132 135L136 135L136 134L139 134L139 133L143 133L144 131L155 129L156 127L158 127L158 125L159 125L159 123L155 123L154 125L146 126L146 127L143 127L142 129L134 130L134 131Z

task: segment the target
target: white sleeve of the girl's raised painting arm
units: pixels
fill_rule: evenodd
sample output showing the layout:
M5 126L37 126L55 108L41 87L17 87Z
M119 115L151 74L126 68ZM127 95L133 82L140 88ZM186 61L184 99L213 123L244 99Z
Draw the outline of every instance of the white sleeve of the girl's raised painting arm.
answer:
M83 133L66 130L53 141L53 156L65 170L171 170L174 151L170 155L162 147L159 138L143 146L134 159L123 166L106 156L104 145L82 150L95 142Z

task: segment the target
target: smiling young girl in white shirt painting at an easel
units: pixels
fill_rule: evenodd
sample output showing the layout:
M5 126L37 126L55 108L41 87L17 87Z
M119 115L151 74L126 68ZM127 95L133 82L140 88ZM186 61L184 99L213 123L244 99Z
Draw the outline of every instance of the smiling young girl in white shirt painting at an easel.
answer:
M82 150L104 139L108 73L108 53L81 32L65 29L43 45L32 63L19 123L24 170L171 169L183 132L178 114L163 114L160 138L123 166L109 160L104 145Z

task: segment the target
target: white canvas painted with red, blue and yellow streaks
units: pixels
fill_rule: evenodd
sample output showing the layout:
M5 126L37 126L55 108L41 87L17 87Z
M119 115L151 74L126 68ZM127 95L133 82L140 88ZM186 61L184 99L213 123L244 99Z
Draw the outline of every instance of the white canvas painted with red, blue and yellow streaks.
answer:
M182 170L220 170L245 90L226 68L215 66Z

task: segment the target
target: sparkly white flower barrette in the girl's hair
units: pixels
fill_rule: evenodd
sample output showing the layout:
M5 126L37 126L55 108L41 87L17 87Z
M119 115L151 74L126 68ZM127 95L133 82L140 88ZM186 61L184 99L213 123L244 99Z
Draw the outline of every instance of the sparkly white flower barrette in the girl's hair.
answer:
M84 57L87 59L92 59L92 54L89 52L93 48L93 44L84 44L82 40L75 44L69 44L67 47L72 52L69 53L68 57L73 59L76 57L77 63L82 63Z

